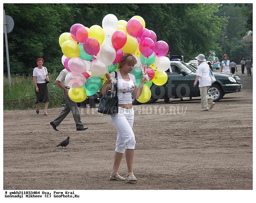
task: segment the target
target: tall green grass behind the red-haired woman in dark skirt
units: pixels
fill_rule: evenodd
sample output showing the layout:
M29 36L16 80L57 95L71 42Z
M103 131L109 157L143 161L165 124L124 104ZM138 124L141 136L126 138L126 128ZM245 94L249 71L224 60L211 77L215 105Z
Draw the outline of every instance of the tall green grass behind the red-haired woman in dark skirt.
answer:
M60 107L64 103L63 90L55 84L58 73L49 73L49 108ZM11 76L12 92L9 91L8 77L4 76L4 110L34 109L36 105L33 77ZM40 104L42 106L42 104Z

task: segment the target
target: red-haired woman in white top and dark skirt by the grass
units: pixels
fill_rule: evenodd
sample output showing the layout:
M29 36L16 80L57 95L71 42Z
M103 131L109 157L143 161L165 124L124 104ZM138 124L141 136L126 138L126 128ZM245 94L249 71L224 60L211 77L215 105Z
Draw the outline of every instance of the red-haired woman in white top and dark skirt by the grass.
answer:
M47 68L43 66L44 59L39 58L36 60L38 67L34 68L33 70L33 81L35 84L35 93L37 100L35 104L37 105L37 114L39 114L39 103L45 103L45 116L48 115L48 105L49 105L49 89L47 83L49 82L49 76Z

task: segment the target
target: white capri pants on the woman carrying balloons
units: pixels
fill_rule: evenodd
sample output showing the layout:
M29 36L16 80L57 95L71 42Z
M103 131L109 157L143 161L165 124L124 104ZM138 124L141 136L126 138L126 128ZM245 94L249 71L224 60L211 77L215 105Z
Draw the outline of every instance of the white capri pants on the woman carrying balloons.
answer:
M124 153L125 149L135 148L135 135L132 130L134 121L134 110L118 107L118 113L110 116L110 121L117 129L116 152Z

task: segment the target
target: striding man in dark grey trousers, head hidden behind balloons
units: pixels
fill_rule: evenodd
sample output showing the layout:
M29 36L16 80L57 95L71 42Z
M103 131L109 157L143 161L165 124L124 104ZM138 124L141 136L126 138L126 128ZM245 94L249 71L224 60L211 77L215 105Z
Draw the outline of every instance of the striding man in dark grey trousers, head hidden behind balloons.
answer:
M66 118L68 113L71 111L72 115L73 115L73 118L74 118L74 121L75 121L75 124L76 124L76 130L77 131L86 130L86 129L88 129L88 127L83 127L76 102L72 101L68 97L68 90L69 90L70 87L67 86L67 84L65 83L65 77L68 73L69 73L68 70L66 70L64 68L61 71L60 75L56 78L55 83L60 88L62 88L64 90L64 99L66 101L66 104L64 106L64 109L62 110L62 112L58 116L58 118L51 121L50 124L51 124L51 126L53 127L54 130L58 131L59 129L57 129L57 126L60 125L60 123L63 121L63 119Z

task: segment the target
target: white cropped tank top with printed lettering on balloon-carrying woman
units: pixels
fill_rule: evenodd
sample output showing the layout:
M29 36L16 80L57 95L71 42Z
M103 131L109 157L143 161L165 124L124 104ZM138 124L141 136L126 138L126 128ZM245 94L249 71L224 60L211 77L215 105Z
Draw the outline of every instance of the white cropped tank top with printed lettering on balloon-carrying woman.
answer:
M115 77L115 72L111 73L112 77ZM125 81L120 71L117 71L117 97L119 104L131 104L132 103L132 92L137 88L135 76L128 73L130 77L129 81Z

